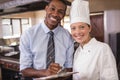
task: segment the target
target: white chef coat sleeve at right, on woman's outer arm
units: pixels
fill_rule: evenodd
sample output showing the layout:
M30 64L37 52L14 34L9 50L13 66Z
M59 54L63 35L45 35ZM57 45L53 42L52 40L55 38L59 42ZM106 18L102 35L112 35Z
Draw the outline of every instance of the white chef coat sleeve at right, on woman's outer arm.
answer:
M107 44L102 47L99 68L100 80L119 80L115 57Z

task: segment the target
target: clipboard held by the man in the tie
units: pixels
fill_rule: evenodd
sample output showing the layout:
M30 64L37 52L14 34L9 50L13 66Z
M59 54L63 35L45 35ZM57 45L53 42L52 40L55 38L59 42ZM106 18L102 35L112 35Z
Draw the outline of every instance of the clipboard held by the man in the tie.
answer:
M70 76L70 75L76 74L76 73L78 73L78 72L63 72L63 73L60 73L60 74L55 74L55 75L51 75L51 76L47 76L47 77L36 78L36 80L55 79L55 78Z

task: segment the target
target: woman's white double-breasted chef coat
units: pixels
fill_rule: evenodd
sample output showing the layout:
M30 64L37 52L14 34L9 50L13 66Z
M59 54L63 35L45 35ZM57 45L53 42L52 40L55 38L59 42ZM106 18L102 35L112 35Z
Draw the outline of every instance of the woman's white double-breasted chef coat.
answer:
M92 38L74 55L73 80L118 80L115 57L106 43Z

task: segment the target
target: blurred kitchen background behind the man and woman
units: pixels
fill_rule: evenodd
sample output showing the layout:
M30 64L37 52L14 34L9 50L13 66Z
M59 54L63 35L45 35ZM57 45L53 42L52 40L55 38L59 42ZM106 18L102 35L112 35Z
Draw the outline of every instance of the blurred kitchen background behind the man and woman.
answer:
M19 39L26 29L44 19L48 1L0 0L0 80L30 80L19 73ZM120 0L87 1L90 2L91 34L111 46L120 74ZM61 25L70 31L72 0L66 2L66 16Z

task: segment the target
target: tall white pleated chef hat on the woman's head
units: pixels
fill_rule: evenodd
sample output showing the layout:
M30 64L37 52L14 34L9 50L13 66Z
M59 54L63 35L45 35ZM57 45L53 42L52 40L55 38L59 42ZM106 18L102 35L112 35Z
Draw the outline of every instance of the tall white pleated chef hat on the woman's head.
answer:
M90 25L89 2L74 0L70 10L70 24L84 22Z

